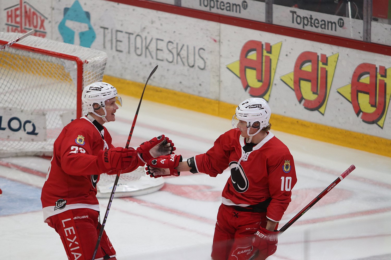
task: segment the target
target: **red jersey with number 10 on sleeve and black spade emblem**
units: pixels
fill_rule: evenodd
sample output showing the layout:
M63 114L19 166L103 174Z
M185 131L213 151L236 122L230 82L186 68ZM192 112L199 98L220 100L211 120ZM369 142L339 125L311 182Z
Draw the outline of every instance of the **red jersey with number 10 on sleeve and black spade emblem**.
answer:
M229 166L222 203L248 207L271 198L267 218L278 222L297 182L293 157L271 132L255 146L245 145L239 130L227 131L206 153L194 157L197 171L216 177Z

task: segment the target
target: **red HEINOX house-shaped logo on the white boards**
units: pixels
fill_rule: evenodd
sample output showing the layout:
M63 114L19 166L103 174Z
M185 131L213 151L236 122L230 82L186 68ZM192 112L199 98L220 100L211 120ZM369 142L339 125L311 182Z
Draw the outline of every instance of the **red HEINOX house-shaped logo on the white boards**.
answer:
M25 33L34 29L36 32L33 35L42 38L46 37L45 22L47 17L28 2L20 0L19 4L7 7L3 12L2 16L6 17L5 26L7 27L7 32Z

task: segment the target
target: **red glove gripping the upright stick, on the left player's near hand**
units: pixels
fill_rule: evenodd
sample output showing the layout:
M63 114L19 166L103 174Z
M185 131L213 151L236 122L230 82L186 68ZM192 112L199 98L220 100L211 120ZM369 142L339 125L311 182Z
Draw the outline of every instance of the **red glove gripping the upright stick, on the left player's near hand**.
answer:
M115 147L106 149L102 153L103 166L108 169L124 170L137 158L137 152L133 148Z

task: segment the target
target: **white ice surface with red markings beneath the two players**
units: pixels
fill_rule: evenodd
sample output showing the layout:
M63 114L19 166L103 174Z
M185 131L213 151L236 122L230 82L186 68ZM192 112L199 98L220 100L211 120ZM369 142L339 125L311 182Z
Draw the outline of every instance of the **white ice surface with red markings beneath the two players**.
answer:
M123 100L117 120L105 124L115 146L126 144L138 105L138 99ZM166 134L186 159L208 150L230 128L230 120L144 100L131 146ZM279 237L268 259L391 259L391 158L273 131L273 126L272 132L291 150L298 175L280 227L351 164L356 169ZM59 236L43 223L40 194L48 165L40 157L0 159L0 259L67 259ZM181 173L165 178L160 191L115 198L105 230L117 259L210 260L228 177L228 171L216 178ZM100 200L101 216L107 203Z

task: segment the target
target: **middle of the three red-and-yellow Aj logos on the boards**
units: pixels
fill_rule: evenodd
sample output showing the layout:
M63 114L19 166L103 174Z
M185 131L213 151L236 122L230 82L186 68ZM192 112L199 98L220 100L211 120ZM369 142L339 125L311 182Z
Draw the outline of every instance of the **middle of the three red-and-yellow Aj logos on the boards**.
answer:
M304 100L305 109L324 115L337 60L338 53L321 54L319 59L318 53L304 51L296 59L294 71L280 79L294 90L299 104Z

